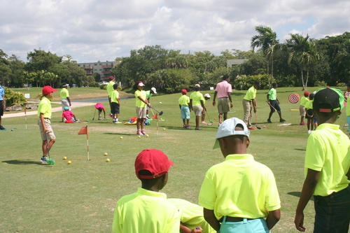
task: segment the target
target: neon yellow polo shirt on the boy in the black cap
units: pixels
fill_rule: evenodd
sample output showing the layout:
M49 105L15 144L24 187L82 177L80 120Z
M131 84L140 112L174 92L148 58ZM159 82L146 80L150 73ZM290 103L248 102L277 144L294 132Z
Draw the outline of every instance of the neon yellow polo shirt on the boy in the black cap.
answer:
M305 176L307 169L321 171L314 195L328 196L346 188L350 167L350 141L339 125L323 123L309 135L305 153Z

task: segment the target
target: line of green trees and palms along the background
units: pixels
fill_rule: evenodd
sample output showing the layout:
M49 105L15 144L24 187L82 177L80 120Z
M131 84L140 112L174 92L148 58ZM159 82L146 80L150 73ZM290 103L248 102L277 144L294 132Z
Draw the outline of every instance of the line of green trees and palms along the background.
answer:
M204 50L183 54L181 50L167 50L161 45L146 45L131 50L129 57L117 57L121 62L111 73L123 87L132 87L143 80L146 85L167 93L190 89L195 83L204 88L214 86L226 73L239 90L246 90L253 80L260 80L265 89L276 82L279 87L299 86L306 90L314 85L343 85L350 79L349 32L321 39L290 34L290 38L280 43L270 27L258 26L255 31L248 51L232 49L214 55ZM228 67L228 59L248 60ZM26 63L0 49L0 76L3 85L9 87L60 87L63 83L80 87L100 79L98 73L86 76L85 70L69 55L59 57L35 49L27 53Z

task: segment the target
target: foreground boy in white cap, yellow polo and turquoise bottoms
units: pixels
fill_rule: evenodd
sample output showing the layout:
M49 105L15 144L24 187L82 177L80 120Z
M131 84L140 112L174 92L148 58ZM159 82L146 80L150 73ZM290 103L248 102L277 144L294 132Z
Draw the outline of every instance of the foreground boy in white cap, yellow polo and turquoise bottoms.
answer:
M225 161L207 171L200 189L204 218L220 233L269 232L281 215L274 174L246 153L249 133L238 118L221 124L214 148Z

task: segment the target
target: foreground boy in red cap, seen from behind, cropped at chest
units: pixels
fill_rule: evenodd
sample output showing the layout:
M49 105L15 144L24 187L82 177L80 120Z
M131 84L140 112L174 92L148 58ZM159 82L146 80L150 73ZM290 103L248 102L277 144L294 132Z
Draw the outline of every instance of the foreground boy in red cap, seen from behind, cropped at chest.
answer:
M159 192L168 181L174 163L156 149L143 150L135 160L136 176L141 181L137 192L119 199L113 217L115 233L178 233L179 211Z

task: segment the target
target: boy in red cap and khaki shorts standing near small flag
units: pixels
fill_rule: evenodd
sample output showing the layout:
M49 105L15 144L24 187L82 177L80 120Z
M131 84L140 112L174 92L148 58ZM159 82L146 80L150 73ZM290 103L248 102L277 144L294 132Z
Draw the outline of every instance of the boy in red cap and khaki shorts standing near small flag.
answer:
M38 125L40 127L41 140L43 141L41 145L41 148L43 150L43 157L40 161L43 164L48 163L48 150L51 150L53 143L56 141L56 137L52 131L50 122L52 114L50 99L53 98L53 92L57 92L57 90L53 89L50 86L43 87L43 98L41 99L38 106ZM48 145L46 143L48 143Z

